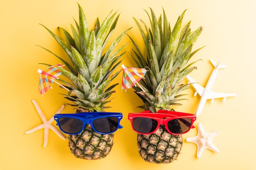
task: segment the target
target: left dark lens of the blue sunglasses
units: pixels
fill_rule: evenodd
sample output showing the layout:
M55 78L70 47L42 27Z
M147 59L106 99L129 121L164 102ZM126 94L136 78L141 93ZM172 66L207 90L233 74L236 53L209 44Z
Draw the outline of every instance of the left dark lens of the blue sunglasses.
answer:
M66 133L79 133L83 128L83 121L75 118L59 118L58 124Z

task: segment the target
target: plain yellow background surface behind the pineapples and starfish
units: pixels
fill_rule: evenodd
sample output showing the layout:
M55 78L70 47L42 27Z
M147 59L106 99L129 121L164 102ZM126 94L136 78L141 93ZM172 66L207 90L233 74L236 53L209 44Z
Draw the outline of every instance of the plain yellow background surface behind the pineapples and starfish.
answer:
M102 22L110 10L121 13L117 30L113 37L127 28L128 34L142 47L142 39L132 17L148 23L143 9L153 8L157 16L164 7L171 27L184 9L189 9L184 24L192 20L191 28L204 29L194 49L206 46L194 57L202 59L193 71L193 77L205 85L213 67L209 62L221 60L228 68L219 70L213 90L238 93L223 103L217 99L213 104L207 101L195 125L202 123L206 132L220 130L213 143L220 150L214 153L204 150L201 158L196 157L197 146L186 142L187 137L197 135L197 128L183 135L183 147L178 160L173 163L157 165L147 163L139 157L136 133L127 120L129 112L142 111L141 104L133 89L121 92L121 74L115 79L115 99L107 111L122 112L123 129L115 133L115 144L104 159L88 161L75 158L67 146L68 140L49 131L49 140L43 148L43 129L25 134L25 131L42 123L31 100L38 102L49 119L67 100L58 94L61 91L54 84L44 97L38 93L38 63L60 63L37 45L64 55L53 37L40 24L44 24L59 35L58 26L70 30L73 17L78 20L78 6L72 0L2 0L0 4L0 169L1 170L255 170L256 158L256 111L255 111L255 73L256 73L256 2L255 0L77 0L83 7L90 28L99 16ZM128 42L127 36L119 43ZM131 43L125 48L123 63L136 67L128 52ZM119 68L121 69L121 67ZM177 111L195 113L200 100L188 90L189 101L182 102ZM70 106L63 113L74 113ZM55 125L55 122L53 123Z

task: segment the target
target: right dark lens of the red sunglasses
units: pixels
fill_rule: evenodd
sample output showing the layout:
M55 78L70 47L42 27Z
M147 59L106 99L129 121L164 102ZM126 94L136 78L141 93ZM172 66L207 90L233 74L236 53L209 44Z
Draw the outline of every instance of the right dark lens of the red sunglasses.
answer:
M185 133L191 127L192 120L190 118L179 118L170 120L167 124L169 131L180 134Z

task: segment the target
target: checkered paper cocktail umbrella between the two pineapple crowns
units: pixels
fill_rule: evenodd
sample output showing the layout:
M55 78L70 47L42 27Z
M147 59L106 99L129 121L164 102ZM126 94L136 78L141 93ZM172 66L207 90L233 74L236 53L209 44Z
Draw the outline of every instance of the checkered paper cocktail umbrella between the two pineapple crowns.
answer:
M123 64L121 66L123 68L121 89L125 89L126 91L126 89L132 88L132 86L136 87L136 85L138 85L139 88L141 88L141 90L145 92L145 90L141 87L141 85L139 85L138 82L141 80L141 78L144 78L148 70L146 70L145 68L126 68Z

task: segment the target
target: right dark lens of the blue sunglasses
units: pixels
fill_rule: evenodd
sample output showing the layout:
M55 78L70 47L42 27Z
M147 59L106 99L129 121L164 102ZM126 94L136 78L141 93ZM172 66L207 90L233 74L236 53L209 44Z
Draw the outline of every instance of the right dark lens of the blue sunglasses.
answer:
M98 118L92 121L94 128L100 133L111 133L118 127L118 119L116 117Z

